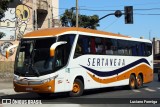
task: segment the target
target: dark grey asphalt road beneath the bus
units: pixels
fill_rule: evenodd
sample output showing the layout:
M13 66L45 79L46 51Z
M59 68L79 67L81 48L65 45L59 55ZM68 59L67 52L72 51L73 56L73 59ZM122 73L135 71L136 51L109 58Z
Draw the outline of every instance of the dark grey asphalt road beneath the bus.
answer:
M88 90L84 92L83 96L78 98L69 97L67 93L53 94L49 98L39 97L35 93L1 94L1 99L40 100L43 104L47 104L47 107L50 106L48 104L54 104L55 106L65 104L66 107L68 106L66 104L70 106L74 104L74 106L78 107L115 107L117 105L125 107L126 104L126 107L160 107L160 82L158 82L157 74L154 74L153 82L144 84L141 89L137 90L128 90L125 87Z

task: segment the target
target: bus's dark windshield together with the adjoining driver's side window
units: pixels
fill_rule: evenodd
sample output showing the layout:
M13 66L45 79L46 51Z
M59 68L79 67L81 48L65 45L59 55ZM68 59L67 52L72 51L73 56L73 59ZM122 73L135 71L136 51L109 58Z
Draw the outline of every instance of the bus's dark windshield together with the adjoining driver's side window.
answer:
M52 38L22 39L17 51L15 74L25 77L42 76L64 67L70 55L74 35L62 35ZM58 41L67 44L56 48L55 56L50 57L50 47Z

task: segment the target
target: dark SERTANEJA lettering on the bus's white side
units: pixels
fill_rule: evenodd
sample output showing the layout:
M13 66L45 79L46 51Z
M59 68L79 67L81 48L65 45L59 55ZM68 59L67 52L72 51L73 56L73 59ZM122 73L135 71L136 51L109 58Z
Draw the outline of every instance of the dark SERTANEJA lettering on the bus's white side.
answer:
M125 66L124 59L88 58L88 66Z

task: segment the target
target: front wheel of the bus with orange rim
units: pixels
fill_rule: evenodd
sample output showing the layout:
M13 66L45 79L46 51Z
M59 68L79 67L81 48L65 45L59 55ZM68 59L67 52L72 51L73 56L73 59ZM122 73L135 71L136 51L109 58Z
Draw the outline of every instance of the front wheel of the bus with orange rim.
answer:
M69 92L69 96L71 97L81 96L83 94L83 91L84 91L84 84L80 79L75 79L72 91Z

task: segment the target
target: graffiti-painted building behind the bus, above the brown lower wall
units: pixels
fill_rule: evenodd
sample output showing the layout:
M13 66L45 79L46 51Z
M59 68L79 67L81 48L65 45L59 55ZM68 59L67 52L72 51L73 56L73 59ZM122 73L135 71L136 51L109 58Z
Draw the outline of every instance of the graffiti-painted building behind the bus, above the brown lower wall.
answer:
M61 26L58 8L58 0L14 0L0 21L0 61L14 61L16 50L9 59L5 58L5 51L24 34Z

